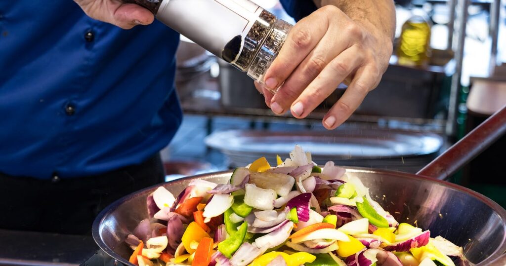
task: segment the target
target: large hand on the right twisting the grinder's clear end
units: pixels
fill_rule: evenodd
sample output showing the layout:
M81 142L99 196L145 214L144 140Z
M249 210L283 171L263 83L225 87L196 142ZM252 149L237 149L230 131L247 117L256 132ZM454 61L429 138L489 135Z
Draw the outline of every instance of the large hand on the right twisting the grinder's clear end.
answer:
M395 20L394 20L395 21ZM256 83L276 114L290 109L304 118L342 82L348 88L323 118L327 129L342 124L373 90L392 55L392 36L364 18L352 20L335 6L325 6L290 30L279 55ZM284 83L283 83L284 82ZM268 88L275 90L275 95Z

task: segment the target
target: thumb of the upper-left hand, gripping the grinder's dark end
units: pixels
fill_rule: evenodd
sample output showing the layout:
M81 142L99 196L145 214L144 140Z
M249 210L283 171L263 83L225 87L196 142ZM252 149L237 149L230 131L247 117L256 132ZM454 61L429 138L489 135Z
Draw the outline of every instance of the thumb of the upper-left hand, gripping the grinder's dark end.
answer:
M154 20L153 13L136 4L121 4L113 11L112 17L112 24L123 29L131 29L136 25L149 25Z

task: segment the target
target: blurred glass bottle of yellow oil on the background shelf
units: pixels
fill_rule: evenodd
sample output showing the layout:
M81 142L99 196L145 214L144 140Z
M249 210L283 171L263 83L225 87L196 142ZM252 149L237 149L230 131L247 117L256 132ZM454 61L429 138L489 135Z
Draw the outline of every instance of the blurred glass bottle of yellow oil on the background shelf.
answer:
M425 66L430 59L431 23L420 8L402 25L397 47L398 63L408 66Z

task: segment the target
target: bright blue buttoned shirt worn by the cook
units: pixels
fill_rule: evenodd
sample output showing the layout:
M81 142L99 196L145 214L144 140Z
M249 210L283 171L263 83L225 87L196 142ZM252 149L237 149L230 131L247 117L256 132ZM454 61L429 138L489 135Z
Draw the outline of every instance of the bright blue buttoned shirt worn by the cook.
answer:
M312 2L297 2L283 4L307 15ZM158 152L182 118L178 41L158 21L122 30L71 0L0 1L0 172L72 178Z

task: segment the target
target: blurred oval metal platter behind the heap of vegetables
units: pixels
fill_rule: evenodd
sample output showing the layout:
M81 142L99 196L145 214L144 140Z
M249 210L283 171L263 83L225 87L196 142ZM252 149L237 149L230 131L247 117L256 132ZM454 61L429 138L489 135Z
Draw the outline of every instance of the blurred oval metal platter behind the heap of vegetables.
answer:
M332 131L227 130L205 139L207 146L228 156L234 167L265 156L275 162L298 144L314 162L416 172L443 146L437 134L407 130L340 128Z

